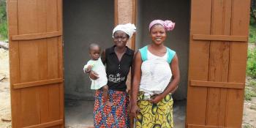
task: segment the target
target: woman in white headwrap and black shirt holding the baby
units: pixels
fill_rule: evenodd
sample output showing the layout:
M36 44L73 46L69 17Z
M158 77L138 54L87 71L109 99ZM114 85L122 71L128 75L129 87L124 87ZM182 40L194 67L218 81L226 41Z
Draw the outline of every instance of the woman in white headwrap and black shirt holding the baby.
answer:
M94 103L94 127L129 127L127 94L127 75L132 67L134 50L126 44L135 32L135 26L131 23L118 25L113 29L113 47L107 48L102 53L102 62L106 65L108 78L109 101L112 105L105 105L102 90L95 93ZM97 79L97 73L90 72L91 79Z

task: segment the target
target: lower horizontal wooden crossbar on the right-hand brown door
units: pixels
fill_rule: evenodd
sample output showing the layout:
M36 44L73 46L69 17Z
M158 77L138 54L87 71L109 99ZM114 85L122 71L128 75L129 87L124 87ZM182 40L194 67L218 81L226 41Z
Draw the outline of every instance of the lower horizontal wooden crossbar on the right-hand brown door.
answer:
M228 83L228 82L190 80L190 86L200 86L200 87L244 89L244 85L245 85L245 83Z

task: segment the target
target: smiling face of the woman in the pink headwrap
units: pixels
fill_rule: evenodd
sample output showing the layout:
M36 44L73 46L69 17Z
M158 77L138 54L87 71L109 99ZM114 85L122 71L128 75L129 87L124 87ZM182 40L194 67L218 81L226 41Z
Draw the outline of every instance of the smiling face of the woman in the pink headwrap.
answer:
M156 45L161 45L166 39L165 27L160 24L152 26L150 35Z

